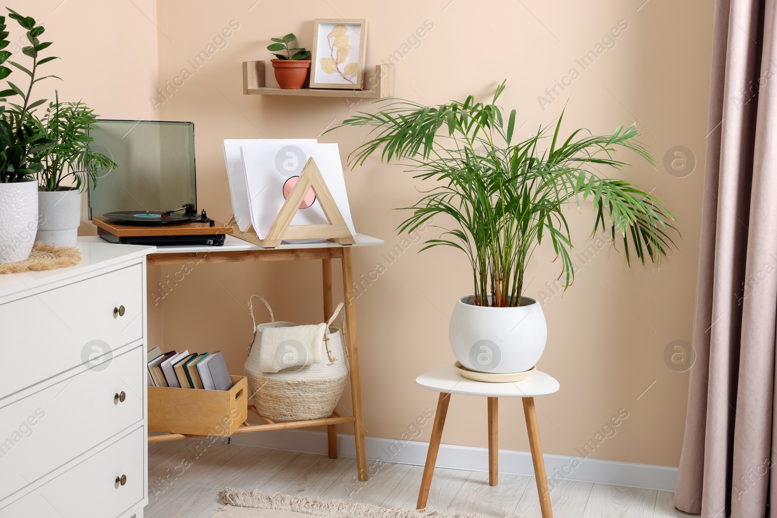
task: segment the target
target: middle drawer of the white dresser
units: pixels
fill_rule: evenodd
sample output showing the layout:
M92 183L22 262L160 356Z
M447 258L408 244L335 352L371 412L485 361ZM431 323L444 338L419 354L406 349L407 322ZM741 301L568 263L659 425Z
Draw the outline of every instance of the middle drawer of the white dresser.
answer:
M0 500L141 422L144 389L139 346L0 408Z

